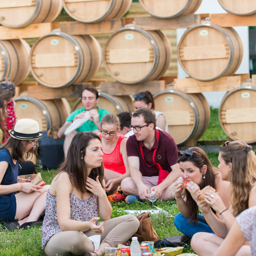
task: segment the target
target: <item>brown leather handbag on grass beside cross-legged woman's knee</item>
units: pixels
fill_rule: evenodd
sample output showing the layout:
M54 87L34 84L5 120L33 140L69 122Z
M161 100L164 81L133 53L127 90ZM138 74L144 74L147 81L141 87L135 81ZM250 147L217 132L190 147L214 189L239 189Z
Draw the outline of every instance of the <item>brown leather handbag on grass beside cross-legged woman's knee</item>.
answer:
M133 236L137 236L140 242L155 242L159 240L159 237L156 234L156 230L153 228L150 220L150 212L142 212L137 216L137 218L140 221L140 226Z

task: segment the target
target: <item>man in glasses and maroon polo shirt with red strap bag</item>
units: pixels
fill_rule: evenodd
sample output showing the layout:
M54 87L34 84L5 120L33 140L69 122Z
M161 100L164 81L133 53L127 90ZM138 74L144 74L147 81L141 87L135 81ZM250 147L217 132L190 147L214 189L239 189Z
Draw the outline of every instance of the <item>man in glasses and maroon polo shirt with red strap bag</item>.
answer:
M126 203L147 200L151 191L159 199L174 198L172 183L180 176L178 148L172 136L156 129L156 116L150 108L132 114L130 128L134 135L126 143L131 177L121 182L128 195Z

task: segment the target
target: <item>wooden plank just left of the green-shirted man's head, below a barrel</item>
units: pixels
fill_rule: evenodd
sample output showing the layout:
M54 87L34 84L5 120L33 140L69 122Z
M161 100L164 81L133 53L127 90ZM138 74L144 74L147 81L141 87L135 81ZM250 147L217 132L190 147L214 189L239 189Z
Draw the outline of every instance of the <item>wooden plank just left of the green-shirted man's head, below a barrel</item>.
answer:
M44 85L28 86L28 95L38 100L52 100L60 98L79 98L85 86L92 86L92 83L73 84L67 87L50 88Z

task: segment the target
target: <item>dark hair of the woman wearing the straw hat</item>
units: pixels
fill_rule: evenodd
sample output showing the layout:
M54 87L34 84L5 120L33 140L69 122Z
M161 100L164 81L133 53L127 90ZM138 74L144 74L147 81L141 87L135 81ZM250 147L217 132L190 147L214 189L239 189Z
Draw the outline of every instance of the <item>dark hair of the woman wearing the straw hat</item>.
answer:
M11 149L10 154L12 156L12 159L19 162L26 162L28 161L27 159L29 159L32 155L37 155L37 146L36 148L31 148L30 150L28 150L28 152L26 152L26 154L24 154L24 149L29 143L30 142L28 140L18 140L13 137L9 137L8 140L1 147L1 149Z

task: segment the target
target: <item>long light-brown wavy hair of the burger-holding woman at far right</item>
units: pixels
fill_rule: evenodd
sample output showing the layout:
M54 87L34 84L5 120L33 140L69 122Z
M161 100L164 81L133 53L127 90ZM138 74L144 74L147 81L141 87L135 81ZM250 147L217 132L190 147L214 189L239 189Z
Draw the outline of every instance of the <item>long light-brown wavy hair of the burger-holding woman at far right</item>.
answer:
M234 140L227 146L228 148L225 145L220 147L220 156L226 164L232 163L230 201L234 214L238 215L249 208L250 191L256 181L256 156L244 141ZM228 149L232 154L232 161Z

